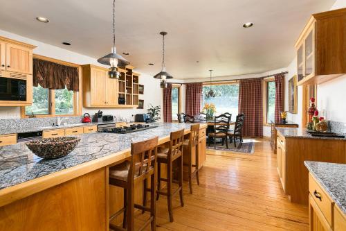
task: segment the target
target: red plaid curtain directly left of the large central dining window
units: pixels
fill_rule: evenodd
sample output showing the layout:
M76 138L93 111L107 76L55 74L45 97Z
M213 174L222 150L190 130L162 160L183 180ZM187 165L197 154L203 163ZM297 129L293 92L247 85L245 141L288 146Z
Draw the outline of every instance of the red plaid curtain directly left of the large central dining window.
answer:
M186 85L185 113L191 116L201 112L202 83L188 83Z

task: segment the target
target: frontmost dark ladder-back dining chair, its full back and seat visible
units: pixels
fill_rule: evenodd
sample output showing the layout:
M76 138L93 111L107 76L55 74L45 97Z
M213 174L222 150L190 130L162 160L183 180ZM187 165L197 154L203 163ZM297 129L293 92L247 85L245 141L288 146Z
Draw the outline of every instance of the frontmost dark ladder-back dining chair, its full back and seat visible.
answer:
M210 137L214 139L214 148L216 149L216 139L222 139L222 145L226 141L226 148L228 148L227 137L228 130L230 129L230 117L226 115L219 115L214 117L214 128L212 132L208 133L208 146L210 146Z

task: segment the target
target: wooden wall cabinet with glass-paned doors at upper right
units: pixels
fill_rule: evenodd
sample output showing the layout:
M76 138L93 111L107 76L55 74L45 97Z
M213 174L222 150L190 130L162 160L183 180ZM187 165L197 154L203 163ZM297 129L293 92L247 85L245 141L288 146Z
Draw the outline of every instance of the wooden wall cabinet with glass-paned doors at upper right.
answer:
M298 85L346 74L346 8L312 15L295 48Z

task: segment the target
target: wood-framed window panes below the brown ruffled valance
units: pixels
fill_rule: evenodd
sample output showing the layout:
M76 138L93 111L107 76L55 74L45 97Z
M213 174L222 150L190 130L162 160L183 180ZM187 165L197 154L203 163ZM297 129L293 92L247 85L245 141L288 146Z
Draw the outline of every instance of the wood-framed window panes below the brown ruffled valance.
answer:
M25 107L25 116L73 115L75 94L68 89L33 87L33 104Z

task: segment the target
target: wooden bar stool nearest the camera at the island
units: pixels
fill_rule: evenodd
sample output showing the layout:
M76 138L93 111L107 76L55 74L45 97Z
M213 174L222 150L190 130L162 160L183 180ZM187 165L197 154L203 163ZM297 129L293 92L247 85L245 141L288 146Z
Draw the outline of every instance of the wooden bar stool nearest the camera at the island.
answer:
M151 223L152 230L156 230L155 221L155 187L156 187L156 156L158 137L147 139L143 142L131 144L131 160L109 168L109 184L124 189L124 207L113 214L109 221L124 213L122 228L109 223L112 230L134 230L134 208L150 212L149 219L140 230ZM150 177L150 189L147 189L147 178ZM143 181L143 191L150 191L150 207L146 207L146 196L143 205L134 204L134 185ZM144 193L143 193L144 194ZM145 193L146 194L146 193ZM127 228L127 229L126 229Z

